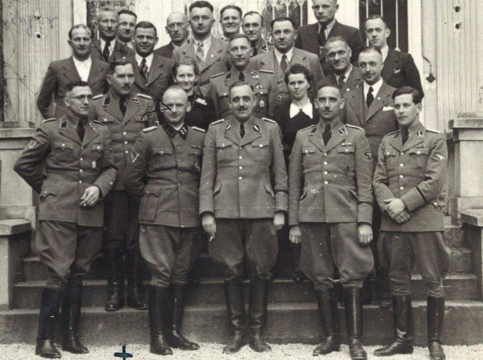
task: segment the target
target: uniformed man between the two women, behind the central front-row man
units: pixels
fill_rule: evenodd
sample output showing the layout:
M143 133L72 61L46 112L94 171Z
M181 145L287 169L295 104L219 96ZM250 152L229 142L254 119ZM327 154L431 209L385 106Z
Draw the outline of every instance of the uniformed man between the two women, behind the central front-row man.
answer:
M253 70L250 62L250 40L246 35L235 34L228 43L229 65L224 72L213 75L210 79L209 96L213 100L218 118L231 114L228 89L237 81L244 81L255 89L255 107L253 116L263 118L273 114L275 105L275 82L273 72Z

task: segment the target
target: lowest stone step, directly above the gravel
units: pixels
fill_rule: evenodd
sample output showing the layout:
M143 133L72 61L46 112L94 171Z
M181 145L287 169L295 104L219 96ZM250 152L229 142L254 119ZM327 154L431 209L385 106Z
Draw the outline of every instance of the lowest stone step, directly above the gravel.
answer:
M344 309L339 304L341 332L345 335ZM114 313L101 307L85 307L80 323L80 338L86 346L118 346L149 342L147 312L123 309ZM38 309L0 312L0 343L35 343ZM426 301L413 302L414 340L426 346ZM392 338L392 311L375 305L364 306L366 345L383 345ZM480 301L446 301L443 341L447 345L473 345L483 339L483 303ZM321 341L322 330L315 303L280 303L268 306L266 339L271 343L307 343ZM226 308L219 305L188 306L183 333L197 342L222 343L228 340ZM59 341L57 334L55 340ZM345 339L344 339L345 342ZM219 354L221 355L222 345ZM33 356L33 354L32 354ZM312 354L301 355L311 358ZM347 357L348 358L348 357Z

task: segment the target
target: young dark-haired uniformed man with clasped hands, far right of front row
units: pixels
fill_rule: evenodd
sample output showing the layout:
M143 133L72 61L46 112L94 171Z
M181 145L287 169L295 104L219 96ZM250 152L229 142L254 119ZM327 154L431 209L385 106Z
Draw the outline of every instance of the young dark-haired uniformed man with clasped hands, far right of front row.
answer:
M443 239L443 213L437 198L446 180L446 138L419 121L422 95L418 90L403 86L392 98L400 130L383 138L373 184L383 211L379 250L389 271L396 340L374 355L413 352L410 283L416 262L428 292L430 358L442 360L443 279L451 253Z

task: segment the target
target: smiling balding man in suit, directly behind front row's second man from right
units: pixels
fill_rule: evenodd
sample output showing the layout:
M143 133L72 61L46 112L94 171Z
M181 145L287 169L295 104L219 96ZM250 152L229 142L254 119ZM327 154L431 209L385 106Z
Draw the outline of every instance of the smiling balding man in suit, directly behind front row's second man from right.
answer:
M326 81L338 86L340 93L345 94L362 85L361 70L350 63L352 51L341 36L327 39L324 48L327 63L331 71L326 75Z

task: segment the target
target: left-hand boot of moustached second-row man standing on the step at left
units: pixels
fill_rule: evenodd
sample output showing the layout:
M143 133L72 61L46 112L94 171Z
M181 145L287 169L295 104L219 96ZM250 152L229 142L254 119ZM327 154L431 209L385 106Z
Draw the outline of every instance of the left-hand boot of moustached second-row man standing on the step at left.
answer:
M124 307L124 266L121 251L118 248L104 250L107 267L108 299L104 305L105 311L118 311Z

